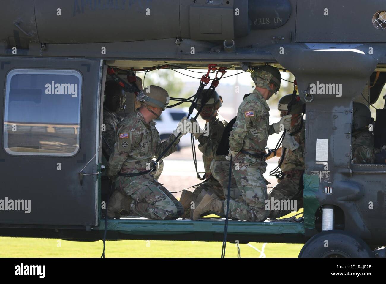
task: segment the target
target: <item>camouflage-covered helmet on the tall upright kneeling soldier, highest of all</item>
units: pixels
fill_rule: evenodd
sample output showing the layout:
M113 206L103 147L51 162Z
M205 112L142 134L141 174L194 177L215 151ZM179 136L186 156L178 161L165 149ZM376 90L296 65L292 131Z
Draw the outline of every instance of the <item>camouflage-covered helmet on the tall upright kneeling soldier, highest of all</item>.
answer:
M276 93L280 88L281 74L279 70L270 65L260 66L251 74L253 82L257 87L269 90L269 85L273 83L276 86Z

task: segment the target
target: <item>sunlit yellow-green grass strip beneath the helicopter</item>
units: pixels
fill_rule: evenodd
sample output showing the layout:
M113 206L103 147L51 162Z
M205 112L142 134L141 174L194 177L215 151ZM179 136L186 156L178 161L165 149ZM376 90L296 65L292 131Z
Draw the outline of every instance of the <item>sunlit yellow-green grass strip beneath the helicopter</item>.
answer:
M250 243L261 250L263 243ZM240 244L241 257L260 252ZM222 242L209 241L107 241L106 257L220 257ZM302 244L267 243L266 257L297 257ZM0 257L100 257L102 241L80 242L36 238L0 238ZM237 257L235 244L227 243L226 257Z

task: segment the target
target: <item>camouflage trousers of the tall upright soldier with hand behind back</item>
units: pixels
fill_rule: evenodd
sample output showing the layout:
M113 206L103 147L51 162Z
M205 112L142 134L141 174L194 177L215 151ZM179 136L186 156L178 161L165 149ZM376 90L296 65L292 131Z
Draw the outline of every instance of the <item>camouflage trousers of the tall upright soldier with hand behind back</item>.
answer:
M269 211L265 210L267 185L263 177L267 163L244 153L239 153L233 163L233 175L243 201L230 200L229 219L261 222L267 219ZM224 213L227 204L224 203Z

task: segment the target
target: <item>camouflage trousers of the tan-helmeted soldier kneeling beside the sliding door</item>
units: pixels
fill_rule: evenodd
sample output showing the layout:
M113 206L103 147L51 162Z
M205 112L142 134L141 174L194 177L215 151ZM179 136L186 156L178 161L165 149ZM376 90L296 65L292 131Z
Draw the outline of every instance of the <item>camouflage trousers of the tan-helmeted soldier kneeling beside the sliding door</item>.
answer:
M134 215L169 220L177 219L184 213L178 200L149 173L137 177L119 176L115 187L134 199L130 208L123 208Z

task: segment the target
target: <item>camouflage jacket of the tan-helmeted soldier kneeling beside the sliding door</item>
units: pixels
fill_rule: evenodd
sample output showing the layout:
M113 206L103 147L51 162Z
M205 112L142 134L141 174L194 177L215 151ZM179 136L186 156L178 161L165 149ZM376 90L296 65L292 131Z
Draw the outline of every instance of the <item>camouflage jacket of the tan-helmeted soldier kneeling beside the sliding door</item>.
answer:
M176 138L173 134L161 142L156 129L156 123L150 121L146 123L141 112L135 111L118 125L117 139L114 151L108 160L107 175L115 176L119 171L122 173L141 172L152 161L158 157ZM164 157L177 150L177 139Z

